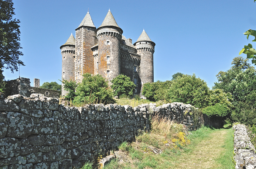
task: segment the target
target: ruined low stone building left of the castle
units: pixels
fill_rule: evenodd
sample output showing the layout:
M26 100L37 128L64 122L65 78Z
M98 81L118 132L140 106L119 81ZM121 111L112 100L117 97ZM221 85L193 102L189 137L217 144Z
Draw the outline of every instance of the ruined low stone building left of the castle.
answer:
M39 82L39 79L36 79ZM34 80L35 84L35 80ZM39 84L37 84L38 86ZM7 81L7 86L9 86L9 93L6 95L22 95L25 97L29 97L33 93L40 93L47 97L54 97L60 98L61 91L52 90L52 89L45 89L39 87L31 87L30 86L30 79L20 77L15 80Z

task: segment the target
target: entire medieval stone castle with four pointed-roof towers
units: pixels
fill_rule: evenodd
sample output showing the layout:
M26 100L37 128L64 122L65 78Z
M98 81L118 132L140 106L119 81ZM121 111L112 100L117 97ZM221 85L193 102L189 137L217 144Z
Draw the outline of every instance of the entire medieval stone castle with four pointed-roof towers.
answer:
M154 82L153 54L155 43L147 33L141 33L132 44L117 25L110 10L100 27L96 29L89 10L71 34L60 46L62 55L62 79L81 82L84 73L100 74L111 81L119 74L131 78L136 84L134 95L141 95L144 83ZM61 95L67 94L63 89Z

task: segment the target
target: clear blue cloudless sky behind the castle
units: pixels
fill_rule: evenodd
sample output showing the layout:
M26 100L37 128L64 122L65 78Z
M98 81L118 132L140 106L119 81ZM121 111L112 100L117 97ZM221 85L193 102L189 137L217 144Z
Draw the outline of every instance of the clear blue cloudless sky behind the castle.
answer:
M61 83L63 45L88 11L98 28L108 9L126 38L136 42L143 28L156 43L154 81L171 80L174 73L195 73L209 88L216 74L231 67L232 59L252 42L243 34L256 29L253 0L13 0L14 18L20 19L24 56L20 76ZM253 45L255 46L255 44ZM244 54L242 54L245 57ZM251 62L251 61L250 61ZM6 80L19 72L4 70Z

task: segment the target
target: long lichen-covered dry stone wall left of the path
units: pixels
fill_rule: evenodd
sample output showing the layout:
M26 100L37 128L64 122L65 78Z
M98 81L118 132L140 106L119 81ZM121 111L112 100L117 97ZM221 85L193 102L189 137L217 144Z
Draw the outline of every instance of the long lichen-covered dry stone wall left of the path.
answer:
M7 99L0 94L0 168L81 167L99 153L109 154L124 140L133 140L138 129L149 129L150 115L159 114L195 130L199 125L190 112L191 105L182 103L68 107L40 94Z

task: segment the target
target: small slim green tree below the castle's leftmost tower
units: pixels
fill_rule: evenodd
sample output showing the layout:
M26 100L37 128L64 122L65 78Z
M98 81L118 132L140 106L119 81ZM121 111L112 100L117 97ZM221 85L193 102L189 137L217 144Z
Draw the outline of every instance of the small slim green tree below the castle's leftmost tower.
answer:
M61 82L63 83L63 88L68 91L68 94L65 95L65 99L74 100L76 97L76 87L78 86L78 83L76 83L76 81L72 81L71 79L69 81L62 79Z

